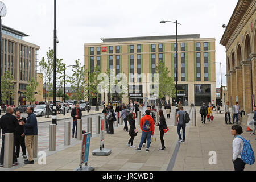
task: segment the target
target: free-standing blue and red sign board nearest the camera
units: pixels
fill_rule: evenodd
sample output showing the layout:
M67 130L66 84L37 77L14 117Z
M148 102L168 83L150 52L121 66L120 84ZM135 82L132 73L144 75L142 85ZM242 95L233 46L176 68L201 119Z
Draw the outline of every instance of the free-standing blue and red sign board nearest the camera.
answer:
M80 163L79 163L79 168L77 168L75 171L94 171L93 167L88 166L88 156L89 156L89 149L90 149L90 137L91 137L90 132L82 135ZM84 167L82 166L83 164L85 164Z

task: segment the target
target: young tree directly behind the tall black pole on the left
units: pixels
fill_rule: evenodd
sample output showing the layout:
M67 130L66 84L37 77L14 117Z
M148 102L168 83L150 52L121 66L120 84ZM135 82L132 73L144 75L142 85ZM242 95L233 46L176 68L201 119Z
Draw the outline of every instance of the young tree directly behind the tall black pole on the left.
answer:
M51 97L51 91L53 91L53 50L49 48L49 51L46 52L47 55L47 61L42 58L42 60L39 63L39 66L41 67L41 72L44 74L44 82L46 82L46 91L48 89L48 101L49 97ZM62 83L63 80L63 72L64 72L64 63L63 59L56 59L56 73L57 73L57 82L59 84Z

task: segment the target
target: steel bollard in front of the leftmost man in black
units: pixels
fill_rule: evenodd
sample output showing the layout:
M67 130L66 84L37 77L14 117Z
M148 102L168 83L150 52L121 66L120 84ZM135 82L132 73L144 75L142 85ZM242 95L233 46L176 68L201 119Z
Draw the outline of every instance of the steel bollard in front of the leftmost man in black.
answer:
M14 133L5 133L3 168L13 167Z

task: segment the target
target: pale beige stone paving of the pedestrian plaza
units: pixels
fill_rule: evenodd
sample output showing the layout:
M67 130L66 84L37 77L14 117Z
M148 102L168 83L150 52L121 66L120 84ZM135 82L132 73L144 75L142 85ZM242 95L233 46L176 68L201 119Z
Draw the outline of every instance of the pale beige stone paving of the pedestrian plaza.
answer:
M190 107L185 107L186 111L191 111ZM90 141L90 152L88 165L97 171L214 171L225 170L233 171L232 163L232 141L230 134L232 125L225 125L224 114L214 114L214 121L201 124L199 107L196 107L197 126L192 127L189 123L186 129L186 143L177 144L177 127L174 126L174 111L172 108L171 118L167 119L167 125L170 128L164 135L166 151L158 151L160 147L159 127L155 127L156 142L150 146L150 152L146 153L146 148L141 152L136 152L134 148L127 147L129 135L123 131L123 126L114 128L114 135L105 134L105 148L112 150L109 156L93 156L92 151L100 147L100 135L96 134L95 121L98 113L89 113L82 117L82 127L87 130L87 117L93 118L93 134ZM165 112L164 112L165 113ZM190 117L192 119L192 112ZM88 114L88 113L87 113ZM69 117L66 115L66 117ZM59 118L59 117L58 117ZM50 122L40 123L38 135L38 152L45 151L47 154L46 165L39 165L37 160L35 164L24 165L20 158L19 166L1 170L7 171L70 171L79 167L79 157L81 150L81 141L71 138L71 146L64 146L64 122L72 119L60 120L57 125L56 151L49 151L49 124ZM137 124L137 121L136 121ZM139 126L137 126L139 128ZM72 125L71 125L72 128ZM134 145L138 147L141 139L141 129L134 139ZM254 151L256 149L255 136L245 132L242 134L246 139L250 139ZM209 164L209 152L215 151L217 154L217 164ZM255 170L255 165L246 165L245 170Z

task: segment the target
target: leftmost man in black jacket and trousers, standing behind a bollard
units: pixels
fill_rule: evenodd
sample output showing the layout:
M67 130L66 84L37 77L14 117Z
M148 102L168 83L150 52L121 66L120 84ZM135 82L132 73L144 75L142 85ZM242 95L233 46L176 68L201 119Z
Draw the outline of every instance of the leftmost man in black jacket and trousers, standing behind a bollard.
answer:
M6 108L6 114L0 118L0 127L2 129L2 148L0 155L0 167L3 167L3 159L5 152L5 133L14 133L17 127L16 117L13 115L13 107ZM19 165L16 152L15 152L15 140L13 142L13 166Z

